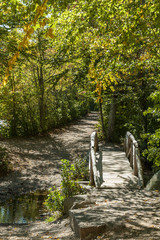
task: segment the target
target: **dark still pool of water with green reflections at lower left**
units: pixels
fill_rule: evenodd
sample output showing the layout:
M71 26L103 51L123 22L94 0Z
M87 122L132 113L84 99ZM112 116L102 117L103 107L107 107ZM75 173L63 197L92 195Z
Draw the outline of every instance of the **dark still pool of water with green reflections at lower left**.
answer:
M47 210L44 201L47 192L35 192L9 200L0 205L0 223L29 223L44 220Z

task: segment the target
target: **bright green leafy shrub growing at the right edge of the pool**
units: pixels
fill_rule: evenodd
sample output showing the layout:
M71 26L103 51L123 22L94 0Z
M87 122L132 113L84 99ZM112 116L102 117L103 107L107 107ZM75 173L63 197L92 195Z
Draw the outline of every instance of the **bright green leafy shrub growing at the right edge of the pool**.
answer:
M61 187L60 189L50 189L45 205L53 213L51 220L64 214L64 200L73 195L83 192L82 187L77 182L76 167L68 160L61 160ZM79 176L79 175L78 175ZM82 174L81 174L82 176Z

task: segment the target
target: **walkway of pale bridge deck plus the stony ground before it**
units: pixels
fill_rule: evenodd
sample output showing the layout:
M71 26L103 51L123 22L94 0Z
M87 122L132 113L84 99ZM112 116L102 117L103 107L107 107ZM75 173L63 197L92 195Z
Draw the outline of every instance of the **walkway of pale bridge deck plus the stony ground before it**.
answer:
M139 189L118 146L102 146L101 151L101 187L79 196L69 211L76 235L81 240L160 239L160 193Z

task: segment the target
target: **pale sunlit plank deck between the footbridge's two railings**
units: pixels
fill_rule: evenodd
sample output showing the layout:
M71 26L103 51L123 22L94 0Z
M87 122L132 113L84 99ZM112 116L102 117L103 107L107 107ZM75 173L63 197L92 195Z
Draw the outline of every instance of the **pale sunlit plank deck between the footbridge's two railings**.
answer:
M137 188L138 178L120 147L102 147L103 184L101 188Z

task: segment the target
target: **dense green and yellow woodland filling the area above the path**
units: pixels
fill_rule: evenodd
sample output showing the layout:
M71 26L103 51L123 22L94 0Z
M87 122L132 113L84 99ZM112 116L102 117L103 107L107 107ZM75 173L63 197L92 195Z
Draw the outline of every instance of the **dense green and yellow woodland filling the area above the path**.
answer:
M1 135L44 133L99 109L102 136L130 131L157 170L159 47L159 0L1 1Z

